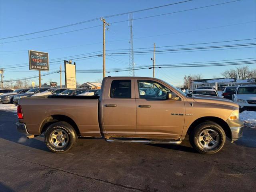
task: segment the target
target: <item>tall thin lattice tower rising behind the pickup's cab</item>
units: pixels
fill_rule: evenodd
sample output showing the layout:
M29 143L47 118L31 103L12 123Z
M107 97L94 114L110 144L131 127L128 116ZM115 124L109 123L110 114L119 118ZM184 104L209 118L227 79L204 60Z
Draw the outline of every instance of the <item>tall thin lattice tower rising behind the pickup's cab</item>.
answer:
M129 76L135 76L134 73L134 52L133 52L133 33L132 33L133 14L129 14L129 28L130 28L130 53L129 53Z

